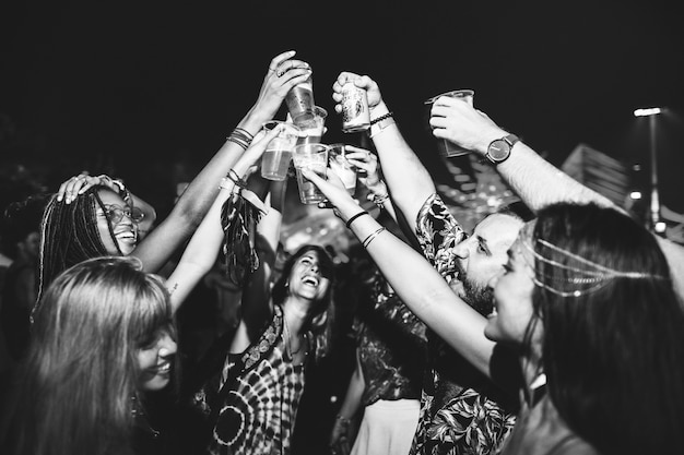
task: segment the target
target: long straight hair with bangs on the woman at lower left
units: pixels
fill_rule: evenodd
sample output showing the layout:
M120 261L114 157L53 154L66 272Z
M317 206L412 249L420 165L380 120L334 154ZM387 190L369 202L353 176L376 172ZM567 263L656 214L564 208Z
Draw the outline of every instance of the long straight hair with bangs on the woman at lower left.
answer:
M140 403L137 352L175 337L161 278L132 258L98 258L62 273L35 312L0 439L8 453L128 453Z

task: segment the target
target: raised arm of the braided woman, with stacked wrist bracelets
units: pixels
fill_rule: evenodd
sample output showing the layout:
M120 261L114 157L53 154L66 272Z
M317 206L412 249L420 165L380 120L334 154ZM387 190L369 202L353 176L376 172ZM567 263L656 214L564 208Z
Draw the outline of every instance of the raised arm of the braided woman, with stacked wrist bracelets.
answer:
M290 88L310 75L308 63L294 60L294 51L287 51L271 60L256 104L237 124L241 131L255 135L262 123L271 120L278 112ZM279 77L276 69L283 64L288 70ZM239 137L237 142L240 142ZM158 271L174 251L194 232L219 194L217 182L226 176L243 152L239 143L226 141L192 180L169 216L133 251L132 254L140 258L146 272Z

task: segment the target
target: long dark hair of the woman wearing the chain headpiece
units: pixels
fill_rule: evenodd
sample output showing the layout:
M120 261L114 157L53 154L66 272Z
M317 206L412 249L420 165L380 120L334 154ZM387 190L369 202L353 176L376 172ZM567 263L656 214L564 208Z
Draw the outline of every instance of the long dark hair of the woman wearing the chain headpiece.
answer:
M532 236L545 258L535 277L555 289L580 283L571 268L581 260L583 270L597 265L591 289L533 292L542 368L563 419L602 454L682 453L684 311L656 238L592 204L541 211ZM555 248L542 251L539 239Z

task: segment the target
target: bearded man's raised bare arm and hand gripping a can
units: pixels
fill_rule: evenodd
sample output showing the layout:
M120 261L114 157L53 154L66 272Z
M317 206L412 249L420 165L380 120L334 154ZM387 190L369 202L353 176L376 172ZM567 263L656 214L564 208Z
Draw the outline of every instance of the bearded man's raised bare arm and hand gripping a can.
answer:
M338 112L342 110L339 104L342 100L340 91L347 80L354 81L357 87L366 91L372 120L390 112L382 100L378 84L366 75L361 76L351 72L340 73L332 86L332 98L338 103L335 105ZM380 129L381 127L385 128ZM411 230L415 231L415 219L421 206L436 191L433 178L401 135L391 117L372 127L370 139L378 152L392 203L404 215Z

